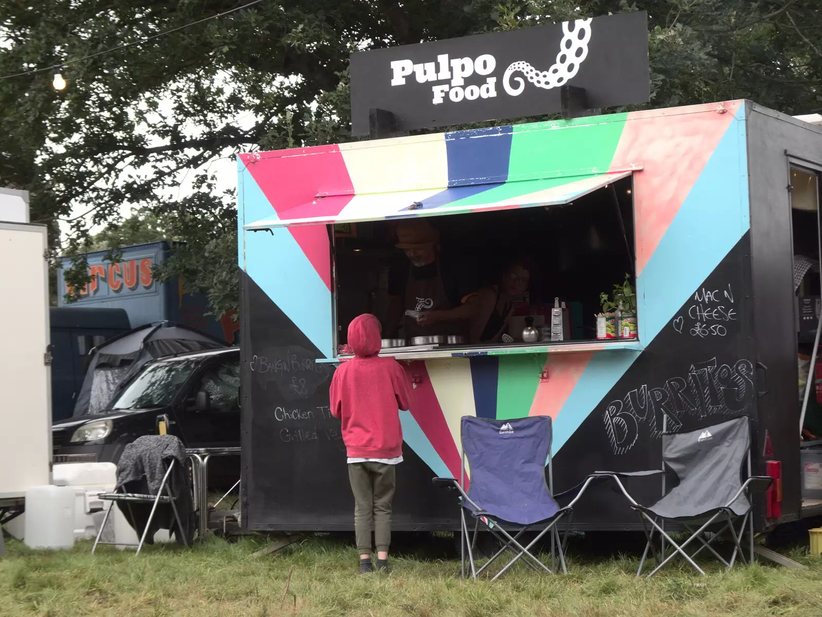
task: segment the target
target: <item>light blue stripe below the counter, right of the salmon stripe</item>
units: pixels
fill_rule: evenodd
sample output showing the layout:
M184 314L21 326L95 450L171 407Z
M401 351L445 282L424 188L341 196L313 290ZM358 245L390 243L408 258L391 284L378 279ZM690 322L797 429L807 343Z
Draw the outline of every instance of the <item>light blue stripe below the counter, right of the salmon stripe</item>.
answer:
M640 331L641 332L641 331ZM622 378L630 365L640 357L639 351L598 351L591 357L580 380L554 420L553 452L560 451L576 429L580 428L605 395ZM604 426L603 426L604 430Z

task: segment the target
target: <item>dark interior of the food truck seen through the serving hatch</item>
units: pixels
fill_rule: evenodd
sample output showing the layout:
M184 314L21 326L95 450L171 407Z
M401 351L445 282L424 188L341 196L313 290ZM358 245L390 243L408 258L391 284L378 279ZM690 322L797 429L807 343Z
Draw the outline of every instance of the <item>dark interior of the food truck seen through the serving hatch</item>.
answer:
M509 304L500 302L498 312L505 323L498 332L489 326L483 337L482 324L477 332L466 327L453 332L462 339L451 347L523 345L529 338L524 337L529 324L538 330L538 342L546 345L595 341L597 315L603 311L601 295L612 295L614 286L626 280L635 284L630 176L562 206L475 211L426 220L438 234L436 263L451 307L473 301L478 292L487 296L492 290L501 297L508 289L506 276L521 283L517 293L508 294ZM402 223L397 220L376 220L335 228L338 347L347 342L349 322L362 313L376 315L384 339L403 343L393 346L412 346L413 335L404 322L412 262L396 246L398 225ZM564 307L561 341L550 336L555 304ZM425 312L425 307L418 308ZM449 342L444 340L441 346L448 348Z

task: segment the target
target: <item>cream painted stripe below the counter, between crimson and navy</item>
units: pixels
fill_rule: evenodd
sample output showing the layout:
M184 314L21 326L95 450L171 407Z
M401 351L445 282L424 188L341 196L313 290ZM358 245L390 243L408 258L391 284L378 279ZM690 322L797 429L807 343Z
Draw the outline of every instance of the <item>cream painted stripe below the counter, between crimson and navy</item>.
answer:
M454 444L462 460L462 443L459 440L459 423L464 415L477 415L473 403L471 361L468 358L441 358L426 360L425 368L431 385L440 402L442 415L454 438Z

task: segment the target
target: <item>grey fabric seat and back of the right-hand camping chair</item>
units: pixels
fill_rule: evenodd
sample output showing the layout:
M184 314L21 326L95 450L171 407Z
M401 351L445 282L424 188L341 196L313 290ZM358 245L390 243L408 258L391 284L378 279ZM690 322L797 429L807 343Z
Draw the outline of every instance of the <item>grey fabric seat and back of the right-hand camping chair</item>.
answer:
M699 518L724 508L747 475L750 420L743 415L705 429L663 435L663 462L679 484L647 509L663 518ZM731 505L744 516L750 502L742 493Z

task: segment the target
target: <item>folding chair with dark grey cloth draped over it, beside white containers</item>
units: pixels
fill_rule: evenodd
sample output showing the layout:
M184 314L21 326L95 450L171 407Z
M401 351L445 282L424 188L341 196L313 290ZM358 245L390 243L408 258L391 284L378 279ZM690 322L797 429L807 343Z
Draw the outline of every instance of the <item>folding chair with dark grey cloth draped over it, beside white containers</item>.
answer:
M105 499L113 503L106 510L105 516L103 517L103 523L97 532L95 544L91 548L92 554L97 550L97 545L136 546L136 554L140 554L146 539L148 539L149 543L152 541L152 537L149 536L153 536L156 530L152 527L151 523L158 514L157 511L160 504L168 505L171 508L173 513L172 524L174 536L178 542L182 541L182 544L186 546L190 544L187 539L189 526L183 524L183 519L180 516L178 508L178 495L174 494L173 490L173 477L178 472L178 466L182 464L179 453L175 451L182 452L182 456L185 456L182 443L178 438L172 435L145 435L126 446L122 452L120 463L118 463L117 488L114 489L113 493L99 494L99 499ZM130 463L131 466L123 469L124 462ZM136 481L136 475L141 476L140 481L141 483L145 482L146 487L150 486L150 476L153 476L153 472L158 470L161 471L163 475L156 491L150 491L150 489L148 489L145 493L133 493L127 490L127 485L132 485L133 488L134 484L132 483ZM190 495L188 495L188 497L190 499ZM152 504L150 513L145 521L145 527L140 534L140 541L137 544L118 542L116 538L113 542L100 541L106 523L109 521L112 508L114 508L114 503L117 503L118 507L120 503L125 503L129 521L132 522L132 526L135 527L135 531L138 533L140 533L140 531L136 529L136 522L139 520L140 513L135 513L132 504Z

